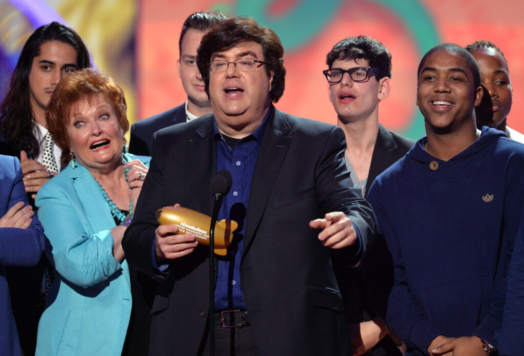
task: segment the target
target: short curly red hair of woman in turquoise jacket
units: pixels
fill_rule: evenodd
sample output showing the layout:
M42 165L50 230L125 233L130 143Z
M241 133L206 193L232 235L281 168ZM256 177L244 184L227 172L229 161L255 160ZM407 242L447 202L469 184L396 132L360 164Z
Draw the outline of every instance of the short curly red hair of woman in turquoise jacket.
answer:
M71 159L69 157L71 151L67 134L71 107L81 99L99 94L115 110L118 124L123 133L125 134L129 130L124 91L113 79L93 68L84 68L63 77L54 89L46 108L47 129L51 133L54 143L62 150L62 158L60 160L63 165L67 164Z

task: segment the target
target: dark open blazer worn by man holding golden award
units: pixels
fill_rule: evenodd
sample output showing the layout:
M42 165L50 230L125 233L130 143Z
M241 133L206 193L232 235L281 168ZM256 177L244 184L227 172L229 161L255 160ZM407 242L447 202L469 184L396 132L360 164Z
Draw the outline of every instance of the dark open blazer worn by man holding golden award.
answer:
M313 219L343 211L369 248L373 211L351 184L344 134L330 124L271 107L255 167L245 221L241 283L262 355L350 355L342 296L331 259L355 263L356 247L322 246ZM211 215L216 172L212 115L157 132L135 218L122 245L127 261L154 275L151 248L162 206ZM198 354L209 314L208 247L173 260L152 308L150 355Z

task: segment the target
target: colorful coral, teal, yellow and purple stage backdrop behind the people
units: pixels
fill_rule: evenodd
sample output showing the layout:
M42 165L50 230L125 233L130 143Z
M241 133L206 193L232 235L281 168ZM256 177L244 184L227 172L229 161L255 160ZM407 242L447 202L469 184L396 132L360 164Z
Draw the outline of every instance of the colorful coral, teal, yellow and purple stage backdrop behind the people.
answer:
M322 75L326 53L347 36L380 40L393 58L393 90L380 105L380 121L413 139L424 132L415 105L422 54L441 42L491 40L509 62L514 89L509 125L524 131L521 0L0 0L2 85L30 33L58 20L80 33L95 65L123 87L130 121L147 118L185 100L176 67L178 39L184 19L199 10L252 16L274 29L287 68L277 107L330 123L336 116Z

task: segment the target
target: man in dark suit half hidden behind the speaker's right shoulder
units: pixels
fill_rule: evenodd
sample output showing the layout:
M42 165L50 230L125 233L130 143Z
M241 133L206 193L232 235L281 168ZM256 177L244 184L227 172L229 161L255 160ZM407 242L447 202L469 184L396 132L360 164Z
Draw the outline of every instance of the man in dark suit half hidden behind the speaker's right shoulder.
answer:
M202 76L196 67L196 49L205 32L223 19L225 16L220 13L206 12L194 13L185 19L178 42L180 58L177 67L188 99L182 105L135 122L131 126L130 153L150 156L151 137L156 131L212 112Z

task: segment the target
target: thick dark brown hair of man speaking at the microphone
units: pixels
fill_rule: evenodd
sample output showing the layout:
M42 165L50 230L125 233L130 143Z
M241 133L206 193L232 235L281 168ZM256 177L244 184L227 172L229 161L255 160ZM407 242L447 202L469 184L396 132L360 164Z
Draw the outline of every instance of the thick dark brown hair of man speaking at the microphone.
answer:
M209 96L209 63L213 54L230 50L245 42L255 42L262 46L266 73L273 73L271 83L271 101L277 102L284 93L286 68L282 58L284 49L280 38L269 27L259 27L249 17L234 17L224 20L209 30L200 42L196 65L204 79L205 91Z

